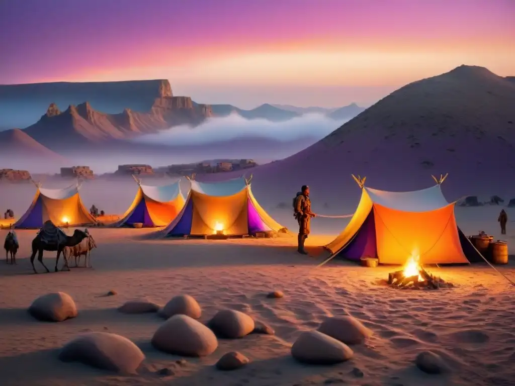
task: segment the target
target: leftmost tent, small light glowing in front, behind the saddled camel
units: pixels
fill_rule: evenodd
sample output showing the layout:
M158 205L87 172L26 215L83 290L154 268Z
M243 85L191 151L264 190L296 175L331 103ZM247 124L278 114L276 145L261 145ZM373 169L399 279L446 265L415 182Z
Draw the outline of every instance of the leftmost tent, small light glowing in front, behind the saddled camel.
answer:
M43 189L37 185L36 196L27 212L14 223L16 228L38 229L50 220L57 226L94 224L79 196L79 184L63 189Z

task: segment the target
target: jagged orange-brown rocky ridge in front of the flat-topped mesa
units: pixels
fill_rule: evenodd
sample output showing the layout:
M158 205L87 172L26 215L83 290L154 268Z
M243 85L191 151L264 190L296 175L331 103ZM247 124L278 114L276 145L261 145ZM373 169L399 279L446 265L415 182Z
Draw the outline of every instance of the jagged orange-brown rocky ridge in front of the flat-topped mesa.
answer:
M210 116L210 106L194 104L190 97L159 97L148 112L124 109L119 114L99 112L89 102L71 105L61 112L51 103L36 124L24 131L39 143L59 151L70 145L130 139L181 124L198 125Z

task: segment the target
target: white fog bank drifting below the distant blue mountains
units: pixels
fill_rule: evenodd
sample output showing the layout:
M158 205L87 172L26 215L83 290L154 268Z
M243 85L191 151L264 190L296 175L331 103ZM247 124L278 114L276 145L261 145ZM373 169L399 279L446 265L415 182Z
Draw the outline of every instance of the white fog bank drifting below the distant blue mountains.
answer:
M135 138L134 142L170 146L205 145L238 138L264 138L279 142L313 138L313 142L316 142L346 121L334 120L322 114L305 114L281 122L246 119L238 114L231 114L227 117L209 118L196 127L175 126L157 134L143 135Z

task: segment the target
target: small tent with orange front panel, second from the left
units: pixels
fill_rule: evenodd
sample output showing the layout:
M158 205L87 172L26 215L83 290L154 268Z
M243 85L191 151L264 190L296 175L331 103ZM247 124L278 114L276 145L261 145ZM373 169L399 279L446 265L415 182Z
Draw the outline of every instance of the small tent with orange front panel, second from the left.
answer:
M145 227L166 226L184 206L180 180L169 185L150 186L138 183L138 192L123 218L115 226L142 223Z

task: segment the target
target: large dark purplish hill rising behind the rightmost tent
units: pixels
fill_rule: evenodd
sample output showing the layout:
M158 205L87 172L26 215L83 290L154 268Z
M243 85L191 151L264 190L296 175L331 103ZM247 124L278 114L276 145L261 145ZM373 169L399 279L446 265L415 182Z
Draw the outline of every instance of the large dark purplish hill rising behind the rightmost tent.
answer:
M402 87L313 146L257 168L255 189L273 185L284 201L309 184L318 200L351 195L354 205L359 189L351 173L367 176L370 187L411 190L449 172L442 186L448 199L515 197L514 106L515 83L459 66Z

